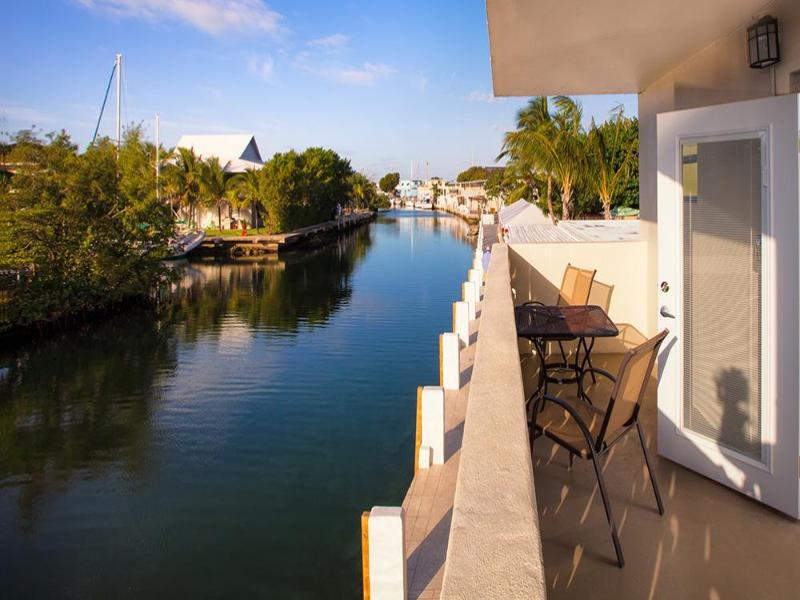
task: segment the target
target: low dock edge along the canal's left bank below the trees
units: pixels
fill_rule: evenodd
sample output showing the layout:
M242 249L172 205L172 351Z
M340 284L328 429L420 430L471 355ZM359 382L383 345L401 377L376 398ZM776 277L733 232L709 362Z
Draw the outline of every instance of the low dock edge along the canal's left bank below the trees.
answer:
M355 229L375 218L371 211L344 215L339 220L325 221L308 227L301 227L287 233L248 236L214 236L206 238L195 250L199 255L256 256L284 252L321 241Z

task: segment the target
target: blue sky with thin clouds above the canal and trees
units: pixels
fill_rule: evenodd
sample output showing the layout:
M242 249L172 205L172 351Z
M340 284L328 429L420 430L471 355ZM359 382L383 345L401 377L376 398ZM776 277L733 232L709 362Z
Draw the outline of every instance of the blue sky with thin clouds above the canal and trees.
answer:
M0 131L87 144L116 52L123 117L162 141L252 132L267 158L331 147L379 177L493 164L524 98L491 96L482 0L28 0L3 7ZM603 119L635 96L582 98ZM112 134L111 110L101 133Z

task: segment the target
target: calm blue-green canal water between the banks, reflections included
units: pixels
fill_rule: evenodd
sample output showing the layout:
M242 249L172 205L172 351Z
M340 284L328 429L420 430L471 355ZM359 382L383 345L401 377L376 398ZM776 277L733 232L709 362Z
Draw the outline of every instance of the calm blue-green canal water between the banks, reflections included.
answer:
M355 598L402 501L466 225L185 266L169 314L0 349L0 597Z

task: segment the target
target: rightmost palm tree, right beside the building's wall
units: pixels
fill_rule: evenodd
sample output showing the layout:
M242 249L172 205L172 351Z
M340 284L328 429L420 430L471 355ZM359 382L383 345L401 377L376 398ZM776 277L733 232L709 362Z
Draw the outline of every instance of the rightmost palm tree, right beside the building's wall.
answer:
M588 159L591 166L591 183L603 203L603 214L611 218L611 202L635 163L638 139L626 139L628 119L622 106L618 106L612 120L592 128L587 136Z

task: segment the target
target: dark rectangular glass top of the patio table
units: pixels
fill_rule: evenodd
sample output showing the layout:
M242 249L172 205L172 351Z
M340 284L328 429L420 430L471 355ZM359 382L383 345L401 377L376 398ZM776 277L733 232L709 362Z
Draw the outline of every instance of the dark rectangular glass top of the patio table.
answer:
M529 339L569 340L616 337L619 329L599 306L517 306L517 335Z

